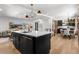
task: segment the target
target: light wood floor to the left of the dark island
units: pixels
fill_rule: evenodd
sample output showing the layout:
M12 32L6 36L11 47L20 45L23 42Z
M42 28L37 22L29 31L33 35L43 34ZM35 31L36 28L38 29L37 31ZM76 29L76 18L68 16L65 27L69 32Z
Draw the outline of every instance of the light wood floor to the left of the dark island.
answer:
M0 54L20 54L9 38L0 38Z

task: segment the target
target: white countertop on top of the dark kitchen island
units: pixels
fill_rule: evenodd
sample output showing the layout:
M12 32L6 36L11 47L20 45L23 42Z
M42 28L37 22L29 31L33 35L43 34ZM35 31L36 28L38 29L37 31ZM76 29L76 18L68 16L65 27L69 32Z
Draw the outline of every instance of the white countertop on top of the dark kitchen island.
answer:
M30 35L30 36L34 36L34 37L39 37L39 36L51 33L48 31L32 31L32 32L28 32L28 33L22 33L22 31L14 31L14 32L20 33L20 34L25 34L25 35Z

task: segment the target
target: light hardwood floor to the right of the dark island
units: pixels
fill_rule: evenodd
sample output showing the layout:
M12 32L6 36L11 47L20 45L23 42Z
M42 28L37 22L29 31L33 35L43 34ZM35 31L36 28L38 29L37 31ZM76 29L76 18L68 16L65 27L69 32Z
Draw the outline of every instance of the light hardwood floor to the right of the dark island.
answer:
M60 35L51 38L51 51L53 54L78 54L78 38L63 38Z

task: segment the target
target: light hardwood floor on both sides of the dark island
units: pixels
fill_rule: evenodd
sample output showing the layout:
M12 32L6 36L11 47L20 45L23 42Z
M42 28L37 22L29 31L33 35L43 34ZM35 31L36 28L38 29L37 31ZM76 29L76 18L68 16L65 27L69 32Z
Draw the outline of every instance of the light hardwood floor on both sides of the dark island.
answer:
M51 54L78 54L78 39L63 38L55 35L51 38ZM0 54L20 54L9 38L0 38Z

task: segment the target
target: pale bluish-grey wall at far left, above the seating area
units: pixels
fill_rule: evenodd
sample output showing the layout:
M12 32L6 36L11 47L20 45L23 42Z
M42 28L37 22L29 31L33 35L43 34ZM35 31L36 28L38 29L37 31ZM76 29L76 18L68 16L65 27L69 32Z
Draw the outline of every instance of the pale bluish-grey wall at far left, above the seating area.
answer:
M16 24L28 23L28 21L24 19L18 19L13 17L0 17L0 32L9 30L9 22L13 22Z

